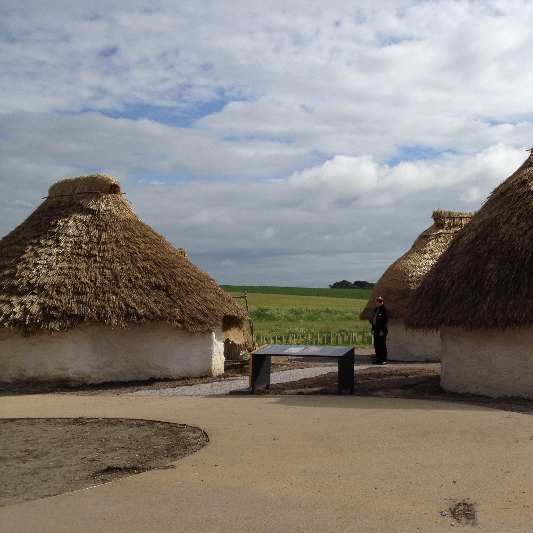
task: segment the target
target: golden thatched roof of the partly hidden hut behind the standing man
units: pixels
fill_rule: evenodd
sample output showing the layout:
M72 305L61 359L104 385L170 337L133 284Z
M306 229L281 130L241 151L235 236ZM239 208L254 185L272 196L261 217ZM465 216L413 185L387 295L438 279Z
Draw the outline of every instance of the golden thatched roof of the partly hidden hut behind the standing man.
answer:
M418 236L407 253L385 270L372 289L360 319L372 320L377 296L383 297L391 318L403 317L415 289L472 216L473 213L433 211L433 225Z

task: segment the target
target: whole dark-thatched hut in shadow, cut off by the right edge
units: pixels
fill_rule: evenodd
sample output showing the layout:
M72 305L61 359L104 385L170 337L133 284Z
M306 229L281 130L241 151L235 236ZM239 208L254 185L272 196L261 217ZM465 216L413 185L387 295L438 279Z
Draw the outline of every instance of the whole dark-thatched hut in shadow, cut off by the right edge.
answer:
M408 328L440 329L447 390L533 396L532 215L533 153L458 232L408 306Z

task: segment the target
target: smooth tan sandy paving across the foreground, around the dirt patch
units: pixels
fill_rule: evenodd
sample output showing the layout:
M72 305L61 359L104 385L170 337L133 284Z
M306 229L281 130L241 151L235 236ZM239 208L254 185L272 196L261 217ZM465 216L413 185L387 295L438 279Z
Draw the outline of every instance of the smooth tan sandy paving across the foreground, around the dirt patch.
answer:
M336 395L0 398L3 417L114 417L202 427L209 444L152 470L0 508L7 533L531 531L533 417ZM470 527L470 526L455 526Z

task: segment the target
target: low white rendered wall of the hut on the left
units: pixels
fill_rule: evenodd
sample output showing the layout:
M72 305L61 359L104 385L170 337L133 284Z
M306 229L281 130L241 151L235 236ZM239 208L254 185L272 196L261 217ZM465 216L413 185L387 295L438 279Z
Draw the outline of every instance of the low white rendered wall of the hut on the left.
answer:
M195 336L168 324L129 330L83 324L32 337L0 328L0 382L101 383L223 372L222 327Z

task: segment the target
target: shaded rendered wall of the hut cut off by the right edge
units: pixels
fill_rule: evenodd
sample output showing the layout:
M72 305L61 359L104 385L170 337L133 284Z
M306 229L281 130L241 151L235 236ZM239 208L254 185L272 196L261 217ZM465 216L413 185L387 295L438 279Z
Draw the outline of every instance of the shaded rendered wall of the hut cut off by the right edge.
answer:
M441 342L443 389L533 397L533 327L510 332L442 328Z

